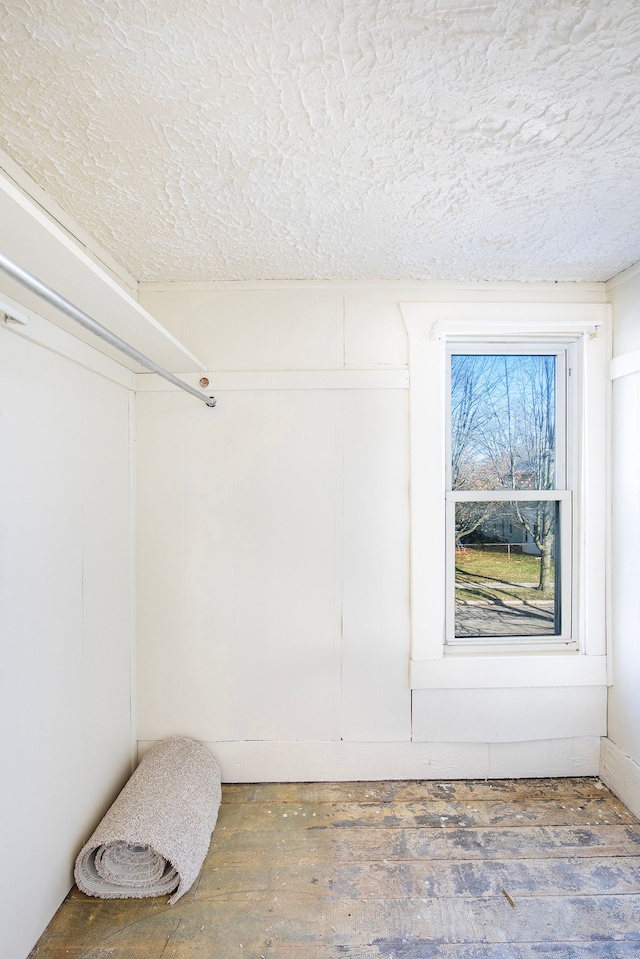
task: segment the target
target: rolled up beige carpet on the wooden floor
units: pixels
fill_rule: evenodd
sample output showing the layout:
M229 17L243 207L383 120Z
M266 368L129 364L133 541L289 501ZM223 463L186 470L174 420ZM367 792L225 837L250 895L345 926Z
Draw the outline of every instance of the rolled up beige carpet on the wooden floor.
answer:
M182 736L158 743L80 851L78 889L177 902L200 872L220 798L220 768L204 746Z

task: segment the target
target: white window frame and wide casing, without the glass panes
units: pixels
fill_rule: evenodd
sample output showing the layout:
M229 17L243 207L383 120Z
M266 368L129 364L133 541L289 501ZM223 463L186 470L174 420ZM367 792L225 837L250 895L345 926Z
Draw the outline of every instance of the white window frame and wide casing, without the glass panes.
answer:
M401 303L400 309L409 336L412 688L604 683L608 305L449 302ZM525 350L570 341L578 359L575 441L567 461L572 483L562 490L573 526L571 631L551 642L446 641L447 349L454 342L480 347L492 341ZM552 492L557 498L560 490ZM454 503L455 493L448 499ZM567 507L563 512L566 523Z

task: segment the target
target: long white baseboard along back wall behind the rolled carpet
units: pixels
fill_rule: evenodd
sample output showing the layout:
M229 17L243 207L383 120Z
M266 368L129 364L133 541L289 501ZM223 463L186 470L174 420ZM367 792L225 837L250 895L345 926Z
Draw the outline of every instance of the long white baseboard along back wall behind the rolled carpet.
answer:
M157 740L139 740L138 758ZM207 742L223 782L597 776L600 738L517 743Z

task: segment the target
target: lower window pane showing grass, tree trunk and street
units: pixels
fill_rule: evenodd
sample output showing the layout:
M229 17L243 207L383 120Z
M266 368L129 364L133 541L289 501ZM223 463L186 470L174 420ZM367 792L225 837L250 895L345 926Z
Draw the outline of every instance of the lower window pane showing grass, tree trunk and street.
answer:
M456 503L455 635L560 634L559 503Z

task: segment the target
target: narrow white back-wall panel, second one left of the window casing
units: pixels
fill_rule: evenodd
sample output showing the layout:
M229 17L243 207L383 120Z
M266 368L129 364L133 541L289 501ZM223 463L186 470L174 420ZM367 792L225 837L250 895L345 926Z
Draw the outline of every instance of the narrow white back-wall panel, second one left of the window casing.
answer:
M278 739L334 739L335 394L281 393L279 433Z

